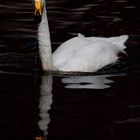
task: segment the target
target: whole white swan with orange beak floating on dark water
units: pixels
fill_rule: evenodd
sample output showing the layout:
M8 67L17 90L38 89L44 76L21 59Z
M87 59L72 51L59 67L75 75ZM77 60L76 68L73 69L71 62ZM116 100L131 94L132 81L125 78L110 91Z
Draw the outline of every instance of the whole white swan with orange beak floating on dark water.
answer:
M34 16L39 19L39 55L44 71L96 72L115 63L125 52L128 35L85 37L82 34L61 44L52 54L45 0L34 0Z

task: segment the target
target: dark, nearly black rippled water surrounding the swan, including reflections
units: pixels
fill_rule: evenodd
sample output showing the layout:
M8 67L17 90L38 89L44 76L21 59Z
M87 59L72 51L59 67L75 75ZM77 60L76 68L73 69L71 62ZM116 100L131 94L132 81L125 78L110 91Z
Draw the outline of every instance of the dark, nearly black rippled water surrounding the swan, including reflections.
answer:
M77 33L129 34L128 56L96 75L41 76L32 2L0 2L0 140L139 140L140 4L47 0L53 50ZM37 62L36 62L37 61Z

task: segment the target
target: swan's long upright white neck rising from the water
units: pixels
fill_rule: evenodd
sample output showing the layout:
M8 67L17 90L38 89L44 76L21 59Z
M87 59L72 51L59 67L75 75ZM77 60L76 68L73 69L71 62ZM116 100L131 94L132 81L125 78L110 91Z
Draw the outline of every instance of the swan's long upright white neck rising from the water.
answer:
M44 71L53 69L52 49L46 6L44 4L42 21L38 27L39 55Z

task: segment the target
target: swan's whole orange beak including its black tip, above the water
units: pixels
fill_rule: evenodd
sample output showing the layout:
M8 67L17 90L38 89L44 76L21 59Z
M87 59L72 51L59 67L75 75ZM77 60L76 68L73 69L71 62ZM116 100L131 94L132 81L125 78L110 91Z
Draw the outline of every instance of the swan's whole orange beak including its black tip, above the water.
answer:
M34 0L34 18L37 23L41 22L42 9L42 0Z

